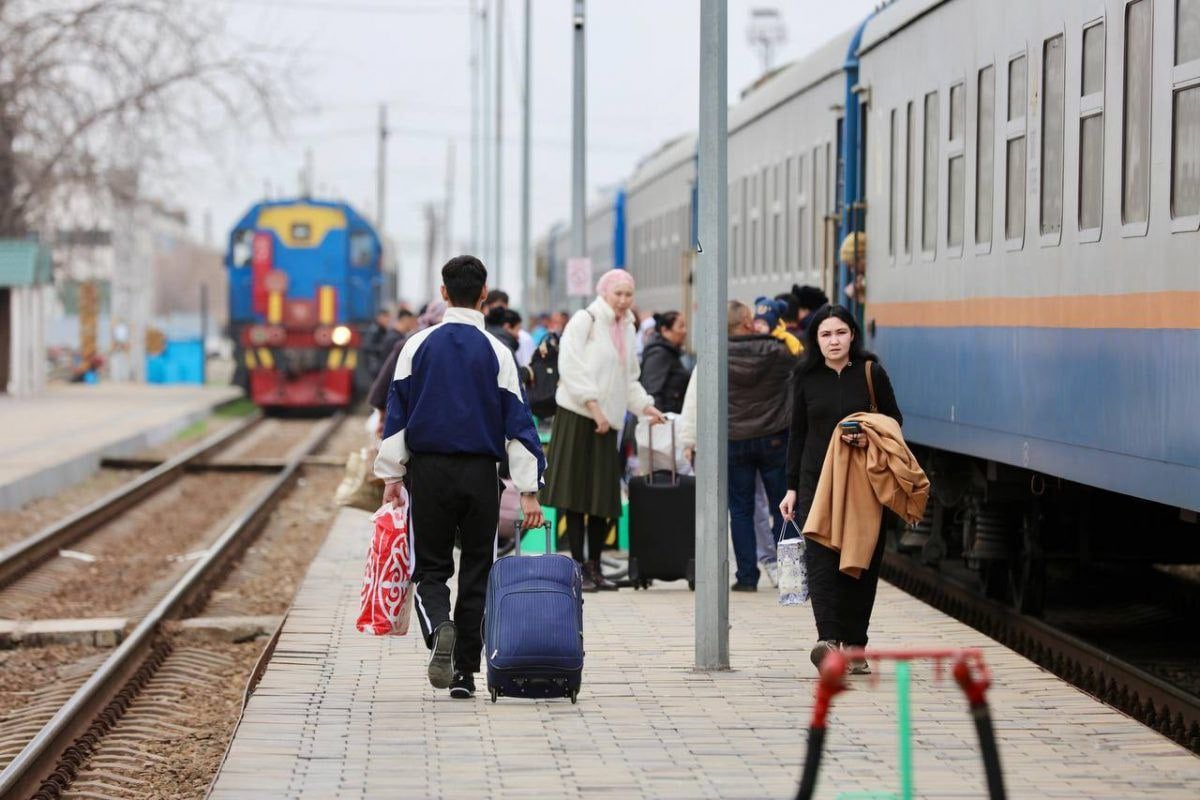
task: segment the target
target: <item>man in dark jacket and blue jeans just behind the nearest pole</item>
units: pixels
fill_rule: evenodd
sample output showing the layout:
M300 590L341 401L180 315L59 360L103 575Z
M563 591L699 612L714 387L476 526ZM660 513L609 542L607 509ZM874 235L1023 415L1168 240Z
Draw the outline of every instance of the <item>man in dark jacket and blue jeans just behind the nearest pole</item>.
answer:
M792 369L787 345L756 333L750 307L728 306L730 336L730 518L737 583L756 591L758 559L754 529L755 479L761 477L772 509L772 530L782 524L779 504L787 493L787 431L792 423Z

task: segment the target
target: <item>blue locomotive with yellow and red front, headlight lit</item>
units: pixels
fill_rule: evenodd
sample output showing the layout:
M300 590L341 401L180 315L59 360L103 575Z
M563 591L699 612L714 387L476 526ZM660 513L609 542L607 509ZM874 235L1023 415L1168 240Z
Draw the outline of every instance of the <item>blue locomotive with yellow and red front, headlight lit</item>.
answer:
M346 203L258 203L229 235L229 324L250 398L337 408L355 395L358 348L379 307L380 242Z

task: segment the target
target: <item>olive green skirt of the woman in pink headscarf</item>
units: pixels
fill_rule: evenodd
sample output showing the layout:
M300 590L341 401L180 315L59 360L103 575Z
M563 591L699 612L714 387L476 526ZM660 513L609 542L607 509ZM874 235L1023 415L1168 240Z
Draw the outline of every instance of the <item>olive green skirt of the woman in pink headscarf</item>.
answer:
M618 433L613 429L599 435L592 417L558 409L550 431L542 505L608 519L620 517Z

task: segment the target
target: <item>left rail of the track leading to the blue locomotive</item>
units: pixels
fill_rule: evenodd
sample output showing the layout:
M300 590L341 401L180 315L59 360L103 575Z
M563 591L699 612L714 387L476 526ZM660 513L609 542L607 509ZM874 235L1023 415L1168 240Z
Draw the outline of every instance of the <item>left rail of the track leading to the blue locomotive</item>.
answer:
M0 551L0 589L52 558L60 548L83 539L155 492L173 483L193 464L241 437L258 425L262 419L262 415L256 413L230 428L215 433L174 458L138 475L125 486L106 494L70 517Z

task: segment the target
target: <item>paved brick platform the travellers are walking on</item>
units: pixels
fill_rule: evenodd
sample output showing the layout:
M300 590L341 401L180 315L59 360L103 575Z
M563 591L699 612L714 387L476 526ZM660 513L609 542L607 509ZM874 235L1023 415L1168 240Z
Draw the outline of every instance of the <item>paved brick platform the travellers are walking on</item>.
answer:
M456 700L428 686L419 634L354 630L368 537L370 515L340 512L212 798L794 796L816 682L808 607L780 607L766 582L732 595L733 669L696 673L684 582L587 595L578 705L493 705L482 680ZM1200 757L886 583L872 644L985 651L1009 798L1195 798ZM878 672L834 703L820 798L898 789L894 682ZM986 796L958 687L912 675L917 796Z

